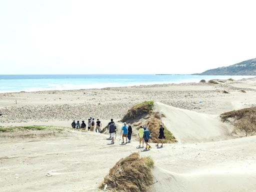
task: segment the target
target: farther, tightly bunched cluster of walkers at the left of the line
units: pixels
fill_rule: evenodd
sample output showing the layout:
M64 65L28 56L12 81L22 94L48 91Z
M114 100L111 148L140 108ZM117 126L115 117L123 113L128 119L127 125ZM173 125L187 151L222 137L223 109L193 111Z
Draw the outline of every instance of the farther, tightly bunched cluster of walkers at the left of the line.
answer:
M80 123L79 120L77 120L76 122L75 122L75 120L73 120L73 122L71 123L71 126L73 128L86 130L86 124L85 124L84 120L82 120L82 123ZM96 132L100 132L101 131L101 122L98 118L95 122L94 118L90 117L90 118L88 118L88 122L87 122L87 130L94 131L94 129Z

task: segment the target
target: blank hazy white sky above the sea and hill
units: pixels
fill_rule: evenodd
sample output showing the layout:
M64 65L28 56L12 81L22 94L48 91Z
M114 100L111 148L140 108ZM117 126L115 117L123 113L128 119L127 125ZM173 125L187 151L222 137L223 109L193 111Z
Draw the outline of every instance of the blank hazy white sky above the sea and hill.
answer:
M194 73L256 57L254 0L0 0L0 74Z

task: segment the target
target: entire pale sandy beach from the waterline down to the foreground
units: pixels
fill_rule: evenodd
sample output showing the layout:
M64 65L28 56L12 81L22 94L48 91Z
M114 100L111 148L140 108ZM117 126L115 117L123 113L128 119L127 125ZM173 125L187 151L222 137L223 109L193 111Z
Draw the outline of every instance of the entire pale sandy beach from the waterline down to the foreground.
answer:
M0 93L0 126L64 129L43 137L10 138L0 133L1 190L99 191L99 183L116 161L140 151L155 161L152 191L256 191L256 137L230 136L232 126L218 117L255 106L255 95L256 77L218 84ZM124 146L108 145L108 134L70 127L73 119L90 116L99 118L102 126L110 118L117 122L132 105L145 100L155 101L155 110L164 114L162 121L177 143L143 150L136 148L133 135L134 140ZM121 123L117 125L120 128Z

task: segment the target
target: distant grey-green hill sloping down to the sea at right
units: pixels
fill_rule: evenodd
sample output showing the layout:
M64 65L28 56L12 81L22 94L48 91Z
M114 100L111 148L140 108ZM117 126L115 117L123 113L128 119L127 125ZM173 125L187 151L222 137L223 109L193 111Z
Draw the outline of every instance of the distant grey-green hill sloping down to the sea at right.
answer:
M256 58L245 60L230 66L209 69L199 75L256 75Z

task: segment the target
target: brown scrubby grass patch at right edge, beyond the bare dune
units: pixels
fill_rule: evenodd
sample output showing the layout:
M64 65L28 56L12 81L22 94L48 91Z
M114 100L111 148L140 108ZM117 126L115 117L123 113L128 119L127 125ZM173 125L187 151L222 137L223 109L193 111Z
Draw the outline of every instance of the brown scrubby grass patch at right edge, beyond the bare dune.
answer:
M234 133L243 132L244 136L256 133L256 106L224 112L220 117L234 125Z

